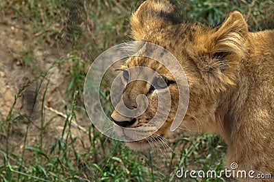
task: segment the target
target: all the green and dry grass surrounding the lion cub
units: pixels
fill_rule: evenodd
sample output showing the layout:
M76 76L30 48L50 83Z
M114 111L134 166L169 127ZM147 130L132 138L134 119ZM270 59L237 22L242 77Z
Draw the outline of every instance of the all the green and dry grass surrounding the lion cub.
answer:
M274 25L273 1L172 2L178 7L177 14L186 21L216 25L227 12L240 10L247 15L251 30L273 28ZM85 110L82 96L90 63L103 50L129 40L129 16L140 3L136 0L0 2L1 16L10 17L27 34L32 34L34 39L30 42L39 49L56 49L61 55L49 71L54 67L69 67L64 93L66 106L58 108L64 113L61 120L58 120L58 114L47 116L43 107L49 94L48 72L36 71L36 78L14 96L10 113L0 120L1 181L175 181L175 172L182 167L223 170L227 147L216 135L183 133L169 143L170 148L134 152L123 142L103 136L91 123L84 129L78 125L77 114ZM24 67L34 69L37 63L34 52L29 49L12 56L21 60ZM34 93L32 109L29 115L24 115L14 106L29 88ZM109 98L108 91L103 90L101 100L108 112L111 110ZM32 117L36 111L38 120ZM52 132L55 121L62 124L60 133ZM38 137L29 143L31 130ZM77 135L75 130L86 136ZM21 140L16 141L18 138Z

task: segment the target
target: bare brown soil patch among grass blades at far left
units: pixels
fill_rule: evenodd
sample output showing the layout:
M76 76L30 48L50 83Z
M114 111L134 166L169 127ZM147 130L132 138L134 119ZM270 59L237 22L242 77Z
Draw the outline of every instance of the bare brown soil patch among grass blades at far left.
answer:
M12 115L21 113L20 115L25 116L11 128L10 150L17 152L22 152L28 126L28 146L40 140L42 127L42 144L50 147L55 137L62 133L68 114L66 111L71 109L71 101L66 99L66 88L70 79L69 61L53 66L54 62L60 60L61 51L47 40L42 43L37 40L37 35L26 31L25 26L12 20L12 17L1 19L0 120L9 116L13 104L15 105ZM30 61L25 62L24 59L27 58L24 56L29 56ZM19 97L15 102L16 95ZM79 109L75 112L78 118L77 122L73 120L72 132L74 135L85 137L86 129L82 126L88 126L88 117Z

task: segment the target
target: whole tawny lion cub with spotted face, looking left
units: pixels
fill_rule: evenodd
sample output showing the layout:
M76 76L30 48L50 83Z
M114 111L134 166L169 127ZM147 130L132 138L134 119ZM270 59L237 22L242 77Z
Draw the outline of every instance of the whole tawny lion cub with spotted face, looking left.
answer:
M237 11L213 29L199 23L178 23L173 5L165 0L142 3L132 15L131 25L135 41L164 47L184 69L190 94L180 128L221 135L229 146L227 163L238 163L238 170L271 173L274 178L274 31L248 32L245 19ZM163 65L149 58L132 57L123 69L136 66L158 71L167 87L151 89L141 80L130 82L123 91L127 108L136 108L140 94L147 96L149 106L136 118L114 111L116 124L144 126L157 110L155 92L169 89L171 93L171 111L157 133L127 142L129 148L141 150L168 135L179 100L177 84ZM125 71L125 79L130 74Z

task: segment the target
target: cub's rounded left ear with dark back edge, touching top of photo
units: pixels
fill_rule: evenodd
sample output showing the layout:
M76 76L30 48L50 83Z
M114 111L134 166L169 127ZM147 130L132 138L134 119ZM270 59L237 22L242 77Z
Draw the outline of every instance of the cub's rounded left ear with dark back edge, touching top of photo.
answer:
M175 23L174 8L166 0L148 0L132 14L132 36L136 41L144 41L154 31Z

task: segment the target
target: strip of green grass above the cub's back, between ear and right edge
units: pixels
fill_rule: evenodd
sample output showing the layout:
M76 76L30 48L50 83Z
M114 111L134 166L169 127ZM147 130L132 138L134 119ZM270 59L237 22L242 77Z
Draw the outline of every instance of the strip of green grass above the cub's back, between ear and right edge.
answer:
M177 14L185 21L199 21L207 25L218 25L228 12L238 10L245 15L249 30L257 31L274 27L273 1L219 1L219 0L172 0Z

